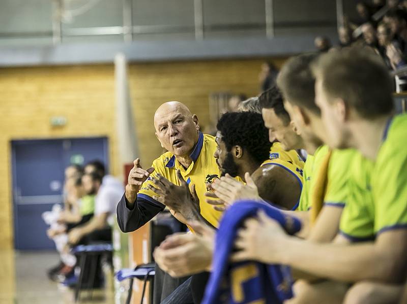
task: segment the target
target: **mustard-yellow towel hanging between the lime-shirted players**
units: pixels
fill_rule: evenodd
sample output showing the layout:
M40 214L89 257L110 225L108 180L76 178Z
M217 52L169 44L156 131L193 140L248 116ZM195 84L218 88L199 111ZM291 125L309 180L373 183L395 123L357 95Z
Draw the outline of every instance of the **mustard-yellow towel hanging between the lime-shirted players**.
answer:
M328 153L322 159L321 164L319 165L319 167L316 170L316 173L314 174L315 179L310 193L311 225L315 223L316 218L318 217L318 214L324 205L324 198L327 192L328 184L328 166L331 154L332 151L329 150Z

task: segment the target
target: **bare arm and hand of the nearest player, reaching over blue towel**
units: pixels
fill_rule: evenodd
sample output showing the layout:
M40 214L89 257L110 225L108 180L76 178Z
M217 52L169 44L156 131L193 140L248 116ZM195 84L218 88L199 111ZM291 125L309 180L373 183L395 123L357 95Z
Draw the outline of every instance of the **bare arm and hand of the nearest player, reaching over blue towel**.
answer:
M317 244L289 237L274 220L246 221L238 232L234 260L287 264L315 276L344 282L401 282L405 275L407 229L385 231L375 242ZM264 246L269 244L269 246Z

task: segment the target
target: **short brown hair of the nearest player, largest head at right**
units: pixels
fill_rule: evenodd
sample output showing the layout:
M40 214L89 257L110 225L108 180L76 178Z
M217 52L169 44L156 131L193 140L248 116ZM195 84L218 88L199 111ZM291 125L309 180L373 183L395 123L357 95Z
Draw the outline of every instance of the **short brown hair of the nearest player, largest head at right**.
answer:
M393 81L382 58L366 48L334 50L312 66L329 99L341 98L364 118L394 110Z

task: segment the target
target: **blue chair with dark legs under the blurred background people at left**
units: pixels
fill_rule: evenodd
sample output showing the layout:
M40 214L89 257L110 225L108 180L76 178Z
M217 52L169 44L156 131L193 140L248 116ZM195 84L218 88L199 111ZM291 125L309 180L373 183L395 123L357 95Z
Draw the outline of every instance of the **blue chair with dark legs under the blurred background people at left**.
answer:
M79 256L80 259L80 274L78 284L75 290L75 302L79 300L80 289L83 287L83 274L88 271L85 269L86 259L88 257L94 257L91 259L91 265L89 269L90 276L90 288L91 288L91 298L92 298L92 287L95 283L96 270L97 270L97 256L102 256L104 254L109 254L113 252L113 246L111 244L93 244L93 245L79 245L72 249L72 253Z

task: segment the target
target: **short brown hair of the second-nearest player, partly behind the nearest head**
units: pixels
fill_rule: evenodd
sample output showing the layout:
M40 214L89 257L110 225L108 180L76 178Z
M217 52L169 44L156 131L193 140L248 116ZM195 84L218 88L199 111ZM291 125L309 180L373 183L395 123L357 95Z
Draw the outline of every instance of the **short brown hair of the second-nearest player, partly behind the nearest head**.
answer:
M277 86L289 103L319 115L321 111L315 105L315 77L310 69L317 57L318 54L309 53L288 59L278 74Z

